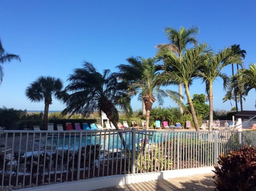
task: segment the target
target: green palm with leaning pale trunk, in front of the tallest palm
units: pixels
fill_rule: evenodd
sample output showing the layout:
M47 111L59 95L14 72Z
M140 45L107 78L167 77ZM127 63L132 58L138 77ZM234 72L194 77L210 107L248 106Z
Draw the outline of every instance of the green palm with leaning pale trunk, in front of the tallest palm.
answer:
M189 86L192 84L193 79L197 76L197 71L202 67L203 62L207 59L205 53L209 52L207 44L199 45L195 48L187 49L183 55L182 62L174 55L168 48L162 48L158 52L158 56L163 60L163 70L165 71L165 78L173 82L182 82L185 87L187 100L190 106L190 112L198 131L198 121L194 105L190 96Z

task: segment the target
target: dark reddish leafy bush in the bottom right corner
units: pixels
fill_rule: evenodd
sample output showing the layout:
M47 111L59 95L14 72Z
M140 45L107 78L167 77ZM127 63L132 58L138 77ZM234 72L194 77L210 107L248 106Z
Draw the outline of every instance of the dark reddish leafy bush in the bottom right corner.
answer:
M221 154L214 165L217 190L256 190L256 148L243 146L239 151Z

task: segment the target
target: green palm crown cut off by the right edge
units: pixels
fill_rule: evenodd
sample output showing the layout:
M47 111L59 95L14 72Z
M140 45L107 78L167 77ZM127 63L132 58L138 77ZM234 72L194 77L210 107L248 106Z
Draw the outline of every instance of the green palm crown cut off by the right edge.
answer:
M251 89L256 90L256 64L252 63L249 69L241 69L238 71L239 89L245 91L246 95Z

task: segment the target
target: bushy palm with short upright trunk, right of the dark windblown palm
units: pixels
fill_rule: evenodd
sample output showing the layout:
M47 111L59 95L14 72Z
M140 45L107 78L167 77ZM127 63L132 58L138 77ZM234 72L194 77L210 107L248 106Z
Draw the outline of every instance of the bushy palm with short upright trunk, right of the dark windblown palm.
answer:
M163 103L166 93L161 86L164 78L155 64L156 59L143 59L142 57L129 57L129 64L118 65L119 78L129 85L131 96L139 95L138 99L145 103L146 128L149 128L149 117L153 103L158 100Z

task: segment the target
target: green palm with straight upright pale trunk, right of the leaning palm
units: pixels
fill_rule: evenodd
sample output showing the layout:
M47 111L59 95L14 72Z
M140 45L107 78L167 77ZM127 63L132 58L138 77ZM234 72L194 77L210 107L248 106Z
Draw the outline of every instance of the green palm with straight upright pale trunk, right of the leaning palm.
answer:
M222 69L230 63L242 63L241 58L233 53L231 48L219 51L217 54L210 56L198 72L198 76L206 84L206 92L209 96L209 130L212 130L213 124L213 81L218 77L222 78L223 87L226 88L228 77L221 72Z

